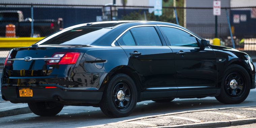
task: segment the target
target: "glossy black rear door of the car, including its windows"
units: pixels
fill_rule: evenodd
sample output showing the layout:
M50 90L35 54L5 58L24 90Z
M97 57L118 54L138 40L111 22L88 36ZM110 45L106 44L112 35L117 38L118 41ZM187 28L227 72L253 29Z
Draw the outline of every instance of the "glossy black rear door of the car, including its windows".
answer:
M143 99L174 97L178 90L173 53L157 31L152 25L132 27L118 39L141 78Z

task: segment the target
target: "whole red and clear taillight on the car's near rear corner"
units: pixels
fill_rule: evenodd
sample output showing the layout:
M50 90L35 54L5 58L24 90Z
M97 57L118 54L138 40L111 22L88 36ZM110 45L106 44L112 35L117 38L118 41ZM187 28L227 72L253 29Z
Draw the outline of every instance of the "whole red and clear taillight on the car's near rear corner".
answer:
M47 61L47 65L75 64L80 53L55 53L51 59ZM60 58L60 59L57 59Z

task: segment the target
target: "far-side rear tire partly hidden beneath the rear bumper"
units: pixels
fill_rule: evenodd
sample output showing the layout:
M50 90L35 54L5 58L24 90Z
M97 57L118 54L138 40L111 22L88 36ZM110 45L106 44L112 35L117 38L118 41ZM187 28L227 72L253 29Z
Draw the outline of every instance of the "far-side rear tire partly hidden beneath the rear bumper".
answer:
M54 116L60 113L64 105L50 107L47 102L28 103L30 110L38 116Z

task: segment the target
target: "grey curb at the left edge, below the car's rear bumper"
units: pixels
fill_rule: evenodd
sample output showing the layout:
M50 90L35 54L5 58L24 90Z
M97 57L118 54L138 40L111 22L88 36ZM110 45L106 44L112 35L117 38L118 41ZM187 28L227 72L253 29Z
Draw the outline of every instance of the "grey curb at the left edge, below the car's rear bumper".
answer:
M14 108L11 110L0 111L0 117L15 116L27 113L32 113L29 107Z

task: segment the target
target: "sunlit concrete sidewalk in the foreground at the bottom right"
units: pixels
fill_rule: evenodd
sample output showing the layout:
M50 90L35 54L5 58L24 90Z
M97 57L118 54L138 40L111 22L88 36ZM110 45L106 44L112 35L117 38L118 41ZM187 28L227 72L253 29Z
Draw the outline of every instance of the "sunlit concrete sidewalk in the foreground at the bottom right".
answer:
M256 106L182 111L81 128L213 128L256 123Z

